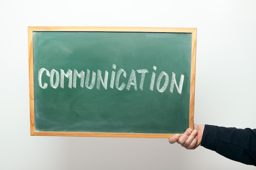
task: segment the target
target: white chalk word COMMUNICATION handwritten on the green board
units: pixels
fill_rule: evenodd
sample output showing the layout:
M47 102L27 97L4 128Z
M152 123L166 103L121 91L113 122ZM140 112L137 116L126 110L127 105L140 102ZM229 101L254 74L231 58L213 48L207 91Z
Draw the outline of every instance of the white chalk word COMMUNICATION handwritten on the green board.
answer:
M117 88L119 91L122 91L126 89L127 91L130 91L130 88L134 88L135 91L137 91L137 85L139 86L139 89L143 91L144 88L144 82L145 82L145 77L146 74L149 73L148 69L138 69L138 70L133 70L130 72L130 75L128 76L127 72L123 69L120 68L116 72L116 65L112 65L113 71L111 75L109 75L108 71L105 71L103 74L101 70L97 70L97 73L91 71L89 69L86 70L86 73L82 70L78 72L76 69L74 71L68 69L66 72L63 69L60 69L60 71L57 71L55 69L52 69L51 71L47 70L46 68L41 68L38 71L38 84L40 88L46 89L48 87L48 84L46 82L43 82L42 77L49 77L49 85L52 88L64 88L64 80L65 77L68 79L68 88L76 88L78 78L80 79L80 87L81 88L88 88L92 89L95 87L98 90L100 90L101 85L104 89L107 90L108 88L108 78L110 76L110 82L109 82L109 87L110 88ZM153 70L156 71L157 67L153 66ZM163 93L166 91L168 88L168 91L173 93L174 86L177 89L177 92L179 94L182 93L182 86L184 82L184 75L180 75L180 82L177 84L176 81L176 75L175 73L171 73L171 77L169 78L168 73L162 71L159 73L159 75L156 77L156 73L152 72L151 74L151 80L150 80L150 85L147 86L149 87L150 91L154 90L154 87L159 91L160 93ZM103 75L102 75L103 74ZM91 75L91 76L90 76ZM139 75L139 76L138 76ZM127 82L120 82L120 77L124 77ZM137 79L140 79L139 81ZM169 80L170 79L170 80ZM155 82L156 80L156 82ZM164 83L161 83L164 82ZM139 83L139 84L137 84Z

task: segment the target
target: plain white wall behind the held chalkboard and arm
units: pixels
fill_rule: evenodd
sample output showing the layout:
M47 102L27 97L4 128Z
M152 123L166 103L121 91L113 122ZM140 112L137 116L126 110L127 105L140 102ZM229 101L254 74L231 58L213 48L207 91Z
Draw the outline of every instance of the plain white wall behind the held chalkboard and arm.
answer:
M1 170L252 170L168 139L35 137L27 26L198 28L195 122L256 128L255 0L1 0Z

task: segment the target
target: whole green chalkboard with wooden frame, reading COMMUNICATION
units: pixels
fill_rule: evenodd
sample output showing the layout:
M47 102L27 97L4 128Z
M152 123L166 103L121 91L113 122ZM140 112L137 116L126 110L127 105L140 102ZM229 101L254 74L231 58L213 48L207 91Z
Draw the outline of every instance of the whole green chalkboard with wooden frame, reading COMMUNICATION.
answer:
M31 135L193 128L195 28L28 27Z

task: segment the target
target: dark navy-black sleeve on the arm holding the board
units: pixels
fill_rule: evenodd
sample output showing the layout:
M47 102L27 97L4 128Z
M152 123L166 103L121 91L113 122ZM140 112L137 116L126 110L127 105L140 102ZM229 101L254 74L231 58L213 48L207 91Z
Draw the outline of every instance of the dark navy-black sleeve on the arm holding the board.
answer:
M256 166L256 129L205 125L201 146L234 161Z

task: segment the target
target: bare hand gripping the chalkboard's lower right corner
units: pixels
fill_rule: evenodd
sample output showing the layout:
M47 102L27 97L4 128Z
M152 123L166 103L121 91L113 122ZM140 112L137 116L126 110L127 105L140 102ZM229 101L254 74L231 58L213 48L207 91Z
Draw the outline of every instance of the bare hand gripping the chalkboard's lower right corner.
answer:
M186 149L197 148L202 141L204 125L194 124L194 130L188 128L182 135L176 134L169 139L170 144L177 142Z

